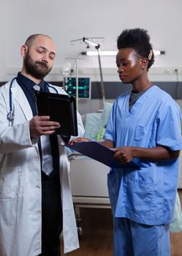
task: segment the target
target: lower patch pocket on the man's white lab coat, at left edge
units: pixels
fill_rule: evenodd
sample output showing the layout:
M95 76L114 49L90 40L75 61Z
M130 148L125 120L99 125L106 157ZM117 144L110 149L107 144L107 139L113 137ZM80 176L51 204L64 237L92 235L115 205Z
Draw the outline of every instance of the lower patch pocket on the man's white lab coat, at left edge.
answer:
M0 200L23 198L25 179L22 167L4 167L0 170Z

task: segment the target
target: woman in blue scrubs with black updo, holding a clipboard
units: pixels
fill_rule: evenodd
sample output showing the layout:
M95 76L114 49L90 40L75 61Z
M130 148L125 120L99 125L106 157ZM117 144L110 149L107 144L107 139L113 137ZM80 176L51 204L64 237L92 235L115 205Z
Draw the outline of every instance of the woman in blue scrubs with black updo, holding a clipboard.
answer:
M107 177L114 255L170 256L170 222L182 149L181 110L148 79L154 62L148 32L126 29L117 45L118 75L124 85L132 84L132 90L115 100L101 142L115 148L113 157L125 164L111 168ZM131 161L140 167L127 167Z

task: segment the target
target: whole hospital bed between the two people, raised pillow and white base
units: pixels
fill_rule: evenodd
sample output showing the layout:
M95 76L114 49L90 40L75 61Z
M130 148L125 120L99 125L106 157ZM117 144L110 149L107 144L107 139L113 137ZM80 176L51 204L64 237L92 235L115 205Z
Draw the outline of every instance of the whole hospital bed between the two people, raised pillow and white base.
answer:
M102 139L98 135L107 124L112 105L105 102L102 112L86 114L86 138ZM75 151L68 151L68 158L75 216L80 229L80 208L110 208L107 192L107 173L110 167ZM81 230L78 230L78 233L81 234Z

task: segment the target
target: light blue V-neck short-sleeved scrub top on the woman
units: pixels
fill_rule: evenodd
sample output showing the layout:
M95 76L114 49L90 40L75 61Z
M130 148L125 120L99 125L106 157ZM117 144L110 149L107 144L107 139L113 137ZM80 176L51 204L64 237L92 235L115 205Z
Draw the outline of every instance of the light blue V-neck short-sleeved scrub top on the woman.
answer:
M181 110L175 100L158 86L152 86L129 111L129 94L126 91L115 100L105 140L112 140L115 147L182 149ZM178 159L134 161L143 167L111 169L108 174L113 215L147 225L169 224L178 187Z

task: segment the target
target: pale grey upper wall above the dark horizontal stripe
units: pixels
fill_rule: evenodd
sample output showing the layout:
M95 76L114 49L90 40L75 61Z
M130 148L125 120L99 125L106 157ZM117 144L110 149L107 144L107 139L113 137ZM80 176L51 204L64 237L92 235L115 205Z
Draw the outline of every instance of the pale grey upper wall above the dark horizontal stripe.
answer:
M79 2L79 4L78 4ZM138 15L141 13L142 15ZM99 81L97 56L79 55L87 48L83 42L72 40L83 37L95 38L101 50L117 50L116 39L123 29L141 27L151 36L153 48L164 50L156 56L150 70L153 81L182 81L182 23L181 0L22 0L0 1L0 81L12 79L21 68L20 46L30 34L48 34L56 42L56 59L49 81L62 80L62 72L69 59L75 70L78 59L78 74L90 76L93 82ZM102 39L99 39L101 38ZM118 81L115 56L101 57L105 82ZM178 74L175 70L178 70ZM74 74L75 75L75 74ZM177 78L178 76L178 78Z

